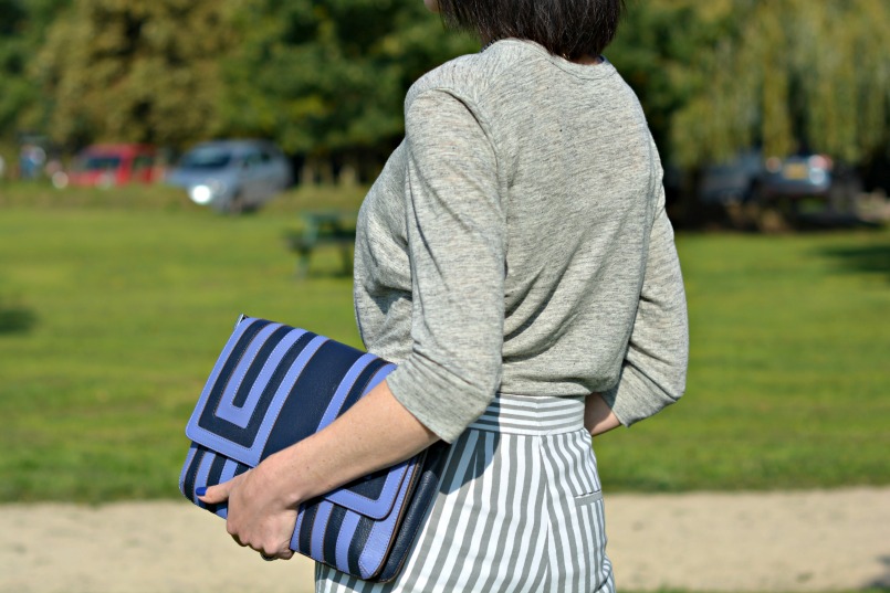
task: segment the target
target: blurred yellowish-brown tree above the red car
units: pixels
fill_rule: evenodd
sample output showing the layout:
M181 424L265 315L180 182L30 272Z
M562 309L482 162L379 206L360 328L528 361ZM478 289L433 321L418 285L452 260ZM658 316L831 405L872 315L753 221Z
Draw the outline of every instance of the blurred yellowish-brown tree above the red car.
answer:
M217 60L232 44L227 2L75 0L33 72L52 97L51 136L69 145L181 146L217 121Z

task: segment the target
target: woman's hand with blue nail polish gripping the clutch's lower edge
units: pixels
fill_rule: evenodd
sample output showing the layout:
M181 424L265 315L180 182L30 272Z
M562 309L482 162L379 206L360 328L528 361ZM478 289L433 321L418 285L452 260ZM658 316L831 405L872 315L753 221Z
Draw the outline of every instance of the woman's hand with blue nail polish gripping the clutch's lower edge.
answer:
M296 507L278 496L275 474L266 462L218 486L211 486L201 501L229 501L226 528L239 546L252 548L264 559L290 560Z

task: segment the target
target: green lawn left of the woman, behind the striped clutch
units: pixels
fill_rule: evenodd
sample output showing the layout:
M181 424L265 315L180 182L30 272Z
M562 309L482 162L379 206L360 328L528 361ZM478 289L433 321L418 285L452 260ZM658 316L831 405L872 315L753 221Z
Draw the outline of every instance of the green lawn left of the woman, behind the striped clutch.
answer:
M0 500L175 496L185 421L239 313L360 343L335 251L294 278L290 204L138 205L0 210L0 308L34 319L0 329Z

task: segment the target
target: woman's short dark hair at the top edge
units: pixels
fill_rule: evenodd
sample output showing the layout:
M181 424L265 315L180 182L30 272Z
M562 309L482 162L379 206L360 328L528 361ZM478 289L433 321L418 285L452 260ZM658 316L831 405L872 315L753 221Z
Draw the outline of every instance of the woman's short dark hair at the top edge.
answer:
M449 27L482 40L527 39L567 59L599 55L624 9L624 0L439 0Z

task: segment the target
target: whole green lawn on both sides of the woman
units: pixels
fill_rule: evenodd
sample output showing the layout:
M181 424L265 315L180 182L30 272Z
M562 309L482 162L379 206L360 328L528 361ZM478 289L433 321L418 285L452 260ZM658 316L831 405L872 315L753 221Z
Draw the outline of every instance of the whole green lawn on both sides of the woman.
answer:
M182 428L239 313L358 346L337 252L296 280L282 233L360 193L302 190L229 218L174 190L0 186L0 501L178 496ZM890 234L679 247L688 393L597 440L606 487L890 484Z

